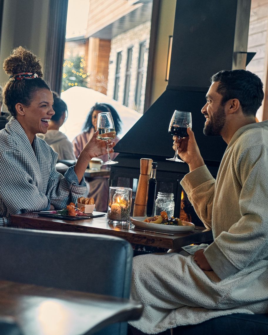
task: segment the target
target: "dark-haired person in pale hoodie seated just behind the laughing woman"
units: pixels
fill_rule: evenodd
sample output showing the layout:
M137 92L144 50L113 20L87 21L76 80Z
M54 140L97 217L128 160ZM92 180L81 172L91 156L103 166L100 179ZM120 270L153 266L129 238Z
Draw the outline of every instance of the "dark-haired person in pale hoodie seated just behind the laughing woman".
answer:
M67 136L59 131L60 127L67 119L67 105L59 97L56 92L53 93L53 110L55 114L52 116L46 134L38 134L38 137L45 140L48 145L59 154L58 159L75 160L73 152L73 144L68 140Z

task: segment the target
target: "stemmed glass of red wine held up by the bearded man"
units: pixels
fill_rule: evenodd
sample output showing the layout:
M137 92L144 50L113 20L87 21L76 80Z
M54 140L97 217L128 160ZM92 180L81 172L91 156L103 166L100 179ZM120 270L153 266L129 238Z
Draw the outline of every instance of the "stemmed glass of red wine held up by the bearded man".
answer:
M192 127L192 114L190 112L175 111L170 120L169 133L179 138L187 137L188 127ZM183 160L178 158L178 147L176 148L175 156L166 158L166 160L184 163Z

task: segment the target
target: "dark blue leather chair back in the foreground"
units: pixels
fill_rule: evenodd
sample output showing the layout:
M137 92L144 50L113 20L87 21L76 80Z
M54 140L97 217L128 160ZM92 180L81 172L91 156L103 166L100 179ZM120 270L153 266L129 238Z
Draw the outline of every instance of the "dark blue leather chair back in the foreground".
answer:
M106 235L0 227L0 279L129 298L133 250ZM97 334L126 334L117 323Z

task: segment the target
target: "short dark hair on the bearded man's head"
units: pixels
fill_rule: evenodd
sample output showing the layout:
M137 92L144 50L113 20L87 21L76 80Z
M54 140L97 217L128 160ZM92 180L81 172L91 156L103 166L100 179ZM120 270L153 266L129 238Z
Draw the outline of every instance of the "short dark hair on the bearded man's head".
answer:
M217 92L222 95L222 105L236 98L244 115L256 116L264 97L263 83L256 74L242 69L223 70L211 77L211 82L214 81L219 82Z

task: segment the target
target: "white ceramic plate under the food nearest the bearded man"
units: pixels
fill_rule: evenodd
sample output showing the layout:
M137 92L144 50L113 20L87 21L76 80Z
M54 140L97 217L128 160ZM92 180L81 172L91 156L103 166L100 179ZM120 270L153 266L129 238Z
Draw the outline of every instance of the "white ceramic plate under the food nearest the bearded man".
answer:
M135 216L131 217L130 221L134 226L146 229L146 230L154 230L154 231L170 231L170 232L186 232L191 231L195 228L195 225L191 222L182 221L183 226L171 226L167 224L157 224L157 223L148 223L143 222L146 217L144 216Z

